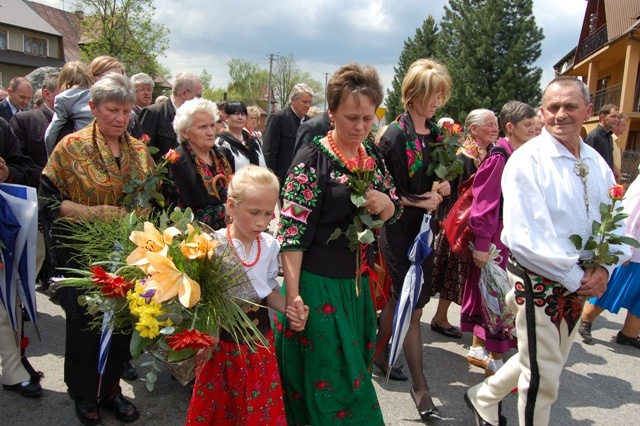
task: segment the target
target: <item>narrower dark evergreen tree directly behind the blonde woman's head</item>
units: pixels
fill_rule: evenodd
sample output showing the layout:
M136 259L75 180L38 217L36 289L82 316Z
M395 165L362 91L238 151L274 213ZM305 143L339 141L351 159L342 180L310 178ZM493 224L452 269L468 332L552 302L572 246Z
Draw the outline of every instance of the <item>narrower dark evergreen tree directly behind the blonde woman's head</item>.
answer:
M413 38L409 37L404 42L398 66L393 67L395 75L391 82L391 89L387 89L386 106L387 112L385 116L387 123L391 123L396 117L404 111L402 105L402 80L409 69L409 66L421 58L434 58L436 56L436 43L438 39L438 25L429 15L424 20L422 26L416 29Z

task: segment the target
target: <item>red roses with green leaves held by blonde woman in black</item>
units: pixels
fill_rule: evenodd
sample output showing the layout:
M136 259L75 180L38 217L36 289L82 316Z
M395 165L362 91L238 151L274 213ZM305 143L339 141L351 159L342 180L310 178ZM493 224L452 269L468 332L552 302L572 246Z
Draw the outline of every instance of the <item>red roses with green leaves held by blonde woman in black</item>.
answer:
M445 121L439 128L436 141L431 143L431 163L427 168L427 175L435 174L441 180L452 180L462 174L462 162L456 157L461 147L459 139L462 126Z

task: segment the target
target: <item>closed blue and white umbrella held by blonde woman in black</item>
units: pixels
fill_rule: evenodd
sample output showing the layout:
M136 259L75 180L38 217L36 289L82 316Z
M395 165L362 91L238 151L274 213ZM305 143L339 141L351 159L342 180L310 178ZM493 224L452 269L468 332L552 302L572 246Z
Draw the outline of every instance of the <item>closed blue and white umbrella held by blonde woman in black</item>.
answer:
M422 277L422 263L429 257L431 251L431 243L433 243L433 235L431 234L431 213L427 213L422 218L420 232L416 235L413 244L409 248L409 260L411 266L407 275L404 277L400 299L396 305L396 311L393 315L393 324L391 326L391 349L389 351L389 368L387 368L387 381L391 373L391 367L398 360L400 348L407 335L407 330L411 323L411 315L416 309L418 296L422 289L424 278Z

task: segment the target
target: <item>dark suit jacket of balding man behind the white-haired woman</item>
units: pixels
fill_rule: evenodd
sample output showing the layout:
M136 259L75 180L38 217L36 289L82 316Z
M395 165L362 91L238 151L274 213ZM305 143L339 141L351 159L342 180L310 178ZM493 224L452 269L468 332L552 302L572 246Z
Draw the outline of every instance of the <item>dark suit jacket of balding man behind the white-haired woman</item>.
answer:
M178 147L178 136L173 130L173 119L176 109L173 102L168 100L161 104L149 105L140 111L140 124L142 133L147 134L151 140L149 146L155 146L159 151L153 154L157 163L171 148Z

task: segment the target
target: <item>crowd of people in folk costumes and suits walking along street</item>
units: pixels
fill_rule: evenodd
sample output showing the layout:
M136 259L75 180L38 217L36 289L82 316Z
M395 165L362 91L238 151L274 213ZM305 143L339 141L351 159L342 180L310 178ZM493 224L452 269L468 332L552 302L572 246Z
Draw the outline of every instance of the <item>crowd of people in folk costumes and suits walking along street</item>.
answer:
M33 87L14 78L0 102L0 182L38 188L36 267L46 287L59 268L86 267L65 244L69 235L59 219L124 216L124 187L155 170L170 150L178 153L158 188L165 207L191 208L232 249L253 286L250 302L260 306L247 315L268 342L256 351L220 333L196 374L187 424L382 425L374 369L410 380L420 418L441 419L446 407L436 407L429 389L421 333L423 308L437 293L431 329L454 339L472 333L467 361L485 371L486 379L465 394L478 425L504 424L500 401L514 389L520 424L548 424L571 344L578 334L592 339L591 325L605 309L629 310L616 341L640 348L638 252L620 245L617 264L591 265L592 252L569 239L593 235L600 203L621 177L612 134L623 115L603 106L600 124L583 141L593 107L580 80L554 79L536 109L514 100L498 115L482 105L469 112L456 156L462 173L451 181L429 172L443 135L437 110L455 90L445 67L430 59L409 67L404 111L375 142L384 94L370 66L339 68L327 84L328 110L312 118L314 92L296 84L289 105L262 132L260 109L202 99L193 73L178 74L167 99L152 103L153 89L148 75L127 78L117 59L100 56L48 75L42 103L27 111ZM354 197L362 169L372 178ZM620 231L636 239L639 182L627 193L629 217ZM467 185L472 246L460 255L441 224ZM434 214L436 238L421 264L422 287L402 342L407 376L389 365L386 349L413 266L407 253L426 213ZM372 223L381 225L377 244L357 240L361 228L350 231ZM373 272L378 259L385 274ZM489 262L506 270L511 290L501 309L514 313L512 327L496 327L488 317L480 282ZM384 306L374 303L376 288L388 292ZM101 411L133 422L140 411L120 387L121 379L138 376L129 362L131 335L113 335L98 375L100 334L89 327L79 292L64 287L55 294L65 312L64 380L75 414L84 425L99 424ZM461 305L459 328L448 315L451 303ZM267 306L276 311L272 319ZM41 394L41 376L15 347L2 305L0 357L5 390Z

